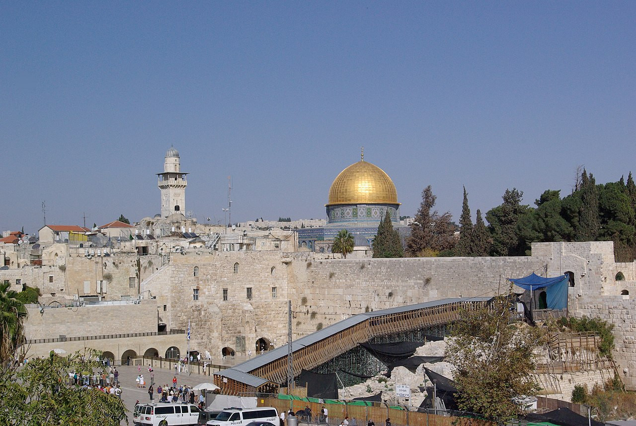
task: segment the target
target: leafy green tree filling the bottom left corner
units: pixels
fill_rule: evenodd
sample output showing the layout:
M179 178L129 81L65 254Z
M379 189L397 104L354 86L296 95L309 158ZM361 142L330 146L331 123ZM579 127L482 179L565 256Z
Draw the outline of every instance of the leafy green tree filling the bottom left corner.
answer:
M6 366L0 375L0 418L10 425L119 425L127 420L121 399L97 388L73 385L69 372L93 374L104 366L99 352L87 350L68 357L36 358L18 371ZM5 423L6 422L6 423Z

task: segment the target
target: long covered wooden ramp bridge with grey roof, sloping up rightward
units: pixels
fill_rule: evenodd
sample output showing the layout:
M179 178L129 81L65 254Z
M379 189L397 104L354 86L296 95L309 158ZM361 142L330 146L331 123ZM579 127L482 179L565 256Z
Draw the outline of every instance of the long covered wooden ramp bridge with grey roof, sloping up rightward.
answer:
M450 298L353 315L291 344L294 377L380 336L406 333L459 319L460 310L474 310L491 298ZM271 350L214 374L226 395L277 394L287 381L288 345Z

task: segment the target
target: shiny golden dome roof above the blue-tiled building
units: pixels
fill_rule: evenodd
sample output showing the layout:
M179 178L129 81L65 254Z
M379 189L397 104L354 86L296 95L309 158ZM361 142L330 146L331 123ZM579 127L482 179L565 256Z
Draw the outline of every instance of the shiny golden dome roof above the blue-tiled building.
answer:
M396 186L382 168L361 160L342 170L331 184L333 204L399 204Z

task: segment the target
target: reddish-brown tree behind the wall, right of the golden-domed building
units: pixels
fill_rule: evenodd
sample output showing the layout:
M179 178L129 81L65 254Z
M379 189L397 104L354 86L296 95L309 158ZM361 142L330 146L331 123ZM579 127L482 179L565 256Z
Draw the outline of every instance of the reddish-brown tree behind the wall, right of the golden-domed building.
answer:
M422 203L411 224L411 235L406 238L409 256L427 256L427 253L437 256L439 252L448 251L457 244L457 227L452 223L450 212L439 214L437 210L432 210L436 199L431 185L424 188Z

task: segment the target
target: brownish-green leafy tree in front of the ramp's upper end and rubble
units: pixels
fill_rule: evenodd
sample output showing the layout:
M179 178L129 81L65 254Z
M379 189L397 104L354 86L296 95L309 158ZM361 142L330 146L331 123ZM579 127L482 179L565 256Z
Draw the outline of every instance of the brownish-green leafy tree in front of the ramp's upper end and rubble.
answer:
M514 399L536 395L528 380L534 371L537 327L509 324L508 298L500 296L474 310L462 310L453 324L446 359L452 364L459 408L503 422L519 413Z

